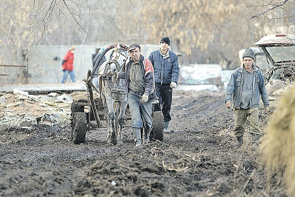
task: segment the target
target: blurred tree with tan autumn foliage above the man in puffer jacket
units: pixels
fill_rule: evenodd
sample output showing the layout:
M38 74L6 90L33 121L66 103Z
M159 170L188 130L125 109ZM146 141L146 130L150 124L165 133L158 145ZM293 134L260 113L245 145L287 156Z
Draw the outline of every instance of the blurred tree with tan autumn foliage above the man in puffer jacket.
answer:
M158 42L160 36L170 36L179 50L191 54L199 47L206 50L208 43L218 34L218 26L232 14L231 1L170 1L145 2L140 10L142 22L149 32L149 40Z

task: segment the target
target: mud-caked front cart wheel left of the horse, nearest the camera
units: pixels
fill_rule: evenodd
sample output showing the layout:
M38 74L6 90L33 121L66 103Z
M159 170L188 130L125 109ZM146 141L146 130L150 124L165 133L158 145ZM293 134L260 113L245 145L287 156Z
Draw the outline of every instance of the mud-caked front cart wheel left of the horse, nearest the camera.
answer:
M73 114L72 127L72 141L74 144L85 143L87 121L84 112L76 112Z

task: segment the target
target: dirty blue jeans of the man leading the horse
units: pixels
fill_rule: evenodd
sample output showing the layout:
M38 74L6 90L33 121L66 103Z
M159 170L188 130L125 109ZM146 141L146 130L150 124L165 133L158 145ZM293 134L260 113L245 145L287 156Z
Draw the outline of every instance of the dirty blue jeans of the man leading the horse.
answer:
M131 111L132 129L145 130L152 128L153 119L151 118L151 101L147 103L140 103L143 93L129 90L128 104Z

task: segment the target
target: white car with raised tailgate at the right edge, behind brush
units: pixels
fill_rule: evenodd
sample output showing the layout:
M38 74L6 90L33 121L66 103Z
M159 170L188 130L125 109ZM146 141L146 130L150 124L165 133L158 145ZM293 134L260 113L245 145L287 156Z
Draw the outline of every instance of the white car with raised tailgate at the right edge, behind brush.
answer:
M295 35L272 34L255 45L264 51L270 69L263 76L270 105L277 105L281 93L295 85Z

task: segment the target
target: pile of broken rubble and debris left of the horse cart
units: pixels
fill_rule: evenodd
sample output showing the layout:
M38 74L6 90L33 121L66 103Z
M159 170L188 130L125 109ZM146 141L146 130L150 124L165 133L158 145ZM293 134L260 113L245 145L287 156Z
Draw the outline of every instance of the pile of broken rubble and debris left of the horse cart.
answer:
M14 89L13 93L0 93L0 129L29 128L32 125L68 125L70 94L50 93L33 95Z

